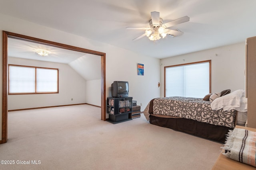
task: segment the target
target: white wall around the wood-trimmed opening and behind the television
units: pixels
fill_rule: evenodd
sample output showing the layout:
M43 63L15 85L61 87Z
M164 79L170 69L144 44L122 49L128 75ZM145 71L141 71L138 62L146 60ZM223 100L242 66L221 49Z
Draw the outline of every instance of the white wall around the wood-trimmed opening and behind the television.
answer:
M142 56L119 47L92 41L71 33L66 33L2 14L0 14L0 21L1 31L9 31L106 53L107 97L110 96L109 87L114 80L129 81L129 96L132 96L138 103L142 103L142 110L144 110L150 99L160 96L160 88L157 87L157 84L160 81L160 59ZM2 39L2 33L0 34L0 39ZM0 47L2 47L2 41L0 41ZM2 48L0 48L0 54L2 55ZM144 64L145 76L137 76L137 63ZM0 60L0 66L0 69L2 69L2 60ZM2 80L2 74L0 74L0 76L0 79ZM2 89L2 83L0 84L0 88ZM2 103L1 96L0 103ZM2 106L0 109L2 109ZM2 124L2 116L0 116L0 124ZM0 126L0 131L2 131L2 126Z

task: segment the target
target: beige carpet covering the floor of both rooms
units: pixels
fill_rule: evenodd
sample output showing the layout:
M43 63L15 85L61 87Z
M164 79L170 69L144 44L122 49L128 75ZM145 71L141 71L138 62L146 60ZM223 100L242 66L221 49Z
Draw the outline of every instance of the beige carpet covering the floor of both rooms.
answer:
M140 118L112 124L90 105L8 113L8 142L0 145L0 169L210 170L216 143ZM29 164L17 164L29 161ZM32 164L32 163L40 164Z

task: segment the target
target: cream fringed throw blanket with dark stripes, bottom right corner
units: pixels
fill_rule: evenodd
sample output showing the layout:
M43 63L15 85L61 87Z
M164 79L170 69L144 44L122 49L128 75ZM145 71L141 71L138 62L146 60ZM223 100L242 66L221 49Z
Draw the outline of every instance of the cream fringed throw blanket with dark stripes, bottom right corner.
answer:
M256 132L234 128L222 149L228 158L256 167Z

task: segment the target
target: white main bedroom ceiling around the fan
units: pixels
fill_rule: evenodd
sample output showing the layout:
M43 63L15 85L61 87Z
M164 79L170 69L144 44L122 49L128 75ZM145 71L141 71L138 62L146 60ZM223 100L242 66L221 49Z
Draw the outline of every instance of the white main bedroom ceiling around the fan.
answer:
M256 0L0 0L0 13L163 59L256 36ZM183 16L190 21L170 27L184 34L150 41L144 30L150 12L164 23ZM104 52L104 51L103 51Z

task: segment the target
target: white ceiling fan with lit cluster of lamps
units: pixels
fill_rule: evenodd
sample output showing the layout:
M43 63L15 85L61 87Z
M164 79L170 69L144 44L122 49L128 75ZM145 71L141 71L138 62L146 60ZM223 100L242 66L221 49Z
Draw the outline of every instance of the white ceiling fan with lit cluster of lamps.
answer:
M163 23L163 19L160 18L160 13L154 11L154 12L151 12L151 20L149 21L150 27L126 27L126 29L145 29L146 30L144 34L140 35L139 37L133 40L138 40L144 36L147 36L150 40L155 41L160 39L161 36L162 38L166 37L167 34L172 36L182 35L183 32L180 31L179 29L173 30L168 28L174 25L178 25L180 23L187 22L189 21L189 19L190 18L188 16L184 16L177 20Z

